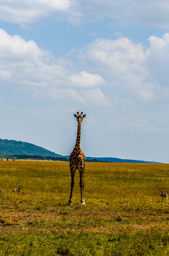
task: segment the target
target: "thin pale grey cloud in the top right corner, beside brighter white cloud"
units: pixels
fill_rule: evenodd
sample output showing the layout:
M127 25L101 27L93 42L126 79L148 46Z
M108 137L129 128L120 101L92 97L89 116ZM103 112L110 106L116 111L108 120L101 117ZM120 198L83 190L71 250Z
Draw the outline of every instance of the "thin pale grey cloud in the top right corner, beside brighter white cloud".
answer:
M112 18L117 26L137 24L168 28L169 2L167 0L75 0L73 2L76 3L76 10L81 12L80 18L83 21Z

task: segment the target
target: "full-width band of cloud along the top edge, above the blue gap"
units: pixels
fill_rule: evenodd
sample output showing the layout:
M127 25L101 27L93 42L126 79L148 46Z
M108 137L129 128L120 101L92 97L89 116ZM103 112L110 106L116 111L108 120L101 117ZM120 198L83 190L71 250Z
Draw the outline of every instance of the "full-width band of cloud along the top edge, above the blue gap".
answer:
M169 2L167 0L11 0L0 1L2 21L21 26L34 23L37 19L52 16L71 23L99 21L112 18L116 26L136 24L168 28Z

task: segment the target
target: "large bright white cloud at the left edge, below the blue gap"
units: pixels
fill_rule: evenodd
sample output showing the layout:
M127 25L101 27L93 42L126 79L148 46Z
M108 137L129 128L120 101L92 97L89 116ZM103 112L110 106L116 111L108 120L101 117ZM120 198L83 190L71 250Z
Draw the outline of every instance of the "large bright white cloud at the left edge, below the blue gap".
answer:
M47 85L49 78L62 75L62 66L51 63L48 52L34 41L10 36L0 29L0 70L6 79L22 85ZM65 75L65 73L64 73ZM1 80L4 76L0 77Z

